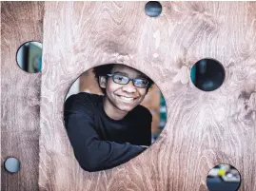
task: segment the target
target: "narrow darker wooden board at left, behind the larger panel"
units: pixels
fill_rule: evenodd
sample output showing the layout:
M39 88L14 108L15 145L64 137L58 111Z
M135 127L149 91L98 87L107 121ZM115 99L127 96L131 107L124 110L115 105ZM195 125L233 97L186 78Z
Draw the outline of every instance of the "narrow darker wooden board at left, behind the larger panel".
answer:
M30 74L16 63L17 49L42 42L44 2L1 2L1 190L38 190L41 73ZM14 174L4 162L21 162Z

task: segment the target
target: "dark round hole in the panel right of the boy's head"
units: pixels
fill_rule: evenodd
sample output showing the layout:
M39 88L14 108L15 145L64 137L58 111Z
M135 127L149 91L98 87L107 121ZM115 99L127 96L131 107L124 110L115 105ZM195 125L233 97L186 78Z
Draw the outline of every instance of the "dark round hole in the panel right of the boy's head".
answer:
M203 91L212 91L220 87L225 80L225 69L213 59L198 61L190 71L192 83Z

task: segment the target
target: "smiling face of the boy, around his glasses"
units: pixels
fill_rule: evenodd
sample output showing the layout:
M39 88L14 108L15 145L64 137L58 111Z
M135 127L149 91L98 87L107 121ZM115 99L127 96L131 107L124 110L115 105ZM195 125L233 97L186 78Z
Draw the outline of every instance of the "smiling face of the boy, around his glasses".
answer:
M145 78L141 72L126 66L117 65L112 68L111 73L122 74L129 78ZM122 111L128 112L136 105L141 104L147 94L147 87L133 86L132 81L129 81L127 85L119 85L113 82L111 77L108 77L107 84L103 78L101 79L100 86L106 88L109 105Z

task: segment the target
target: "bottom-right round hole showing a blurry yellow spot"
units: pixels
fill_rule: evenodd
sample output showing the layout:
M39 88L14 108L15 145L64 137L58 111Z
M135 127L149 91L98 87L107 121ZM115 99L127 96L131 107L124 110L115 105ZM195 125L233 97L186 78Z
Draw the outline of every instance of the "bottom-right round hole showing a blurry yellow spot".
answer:
M209 191L237 191L240 185L240 173L232 165L222 163L208 172L207 188Z

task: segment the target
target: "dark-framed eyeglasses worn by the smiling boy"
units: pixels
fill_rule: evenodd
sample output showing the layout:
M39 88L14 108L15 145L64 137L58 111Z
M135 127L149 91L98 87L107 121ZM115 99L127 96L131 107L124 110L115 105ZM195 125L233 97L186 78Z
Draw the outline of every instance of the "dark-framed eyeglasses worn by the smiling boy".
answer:
M148 86L148 80L143 78L128 78L121 74L107 74L108 77L111 77L113 82L119 85L127 85L129 81L132 81L133 86L139 88L146 88Z

